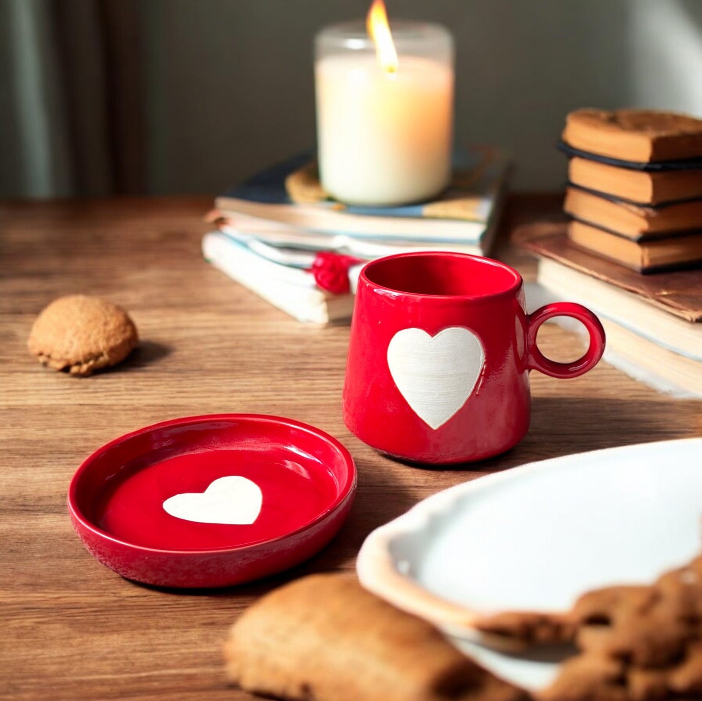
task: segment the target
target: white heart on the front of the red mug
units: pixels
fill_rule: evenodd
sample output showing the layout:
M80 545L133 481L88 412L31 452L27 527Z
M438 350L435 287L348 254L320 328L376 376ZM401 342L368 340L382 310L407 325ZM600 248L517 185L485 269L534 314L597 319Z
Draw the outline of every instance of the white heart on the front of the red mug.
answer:
M482 342L463 326L444 328L435 336L405 328L388 345L388 367L399 393L432 429L465 404L484 365Z

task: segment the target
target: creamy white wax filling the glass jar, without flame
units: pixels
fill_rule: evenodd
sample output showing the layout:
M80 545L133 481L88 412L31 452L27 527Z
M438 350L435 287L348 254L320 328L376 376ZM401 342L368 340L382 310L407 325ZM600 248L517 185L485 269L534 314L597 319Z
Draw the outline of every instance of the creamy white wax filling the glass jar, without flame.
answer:
M315 65L322 185L350 204L428 199L451 177L453 69L399 56L397 72L375 55L332 54Z

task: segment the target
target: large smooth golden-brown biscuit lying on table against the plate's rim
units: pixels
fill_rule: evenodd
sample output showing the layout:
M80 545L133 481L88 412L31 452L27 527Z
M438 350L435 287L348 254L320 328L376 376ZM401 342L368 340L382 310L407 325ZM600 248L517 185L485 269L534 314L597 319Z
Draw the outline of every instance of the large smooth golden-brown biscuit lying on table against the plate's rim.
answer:
M527 699L351 575L312 575L264 596L232 627L225 660L244 690L288 700Z

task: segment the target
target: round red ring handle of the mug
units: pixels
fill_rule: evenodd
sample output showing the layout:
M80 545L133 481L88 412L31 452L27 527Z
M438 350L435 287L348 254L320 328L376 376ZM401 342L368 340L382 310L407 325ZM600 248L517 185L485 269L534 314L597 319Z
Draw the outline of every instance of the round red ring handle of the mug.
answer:
M570 316L572 319L581 321L590 334L590 345L585 354L572 363L557 363L549 360L538 349L536 345L536 333L544 321L552 319L554 316ZM544 375L552 378L567 379L577 378L592 370L597 365L597 361L604 353L604 328L595 314L586 309L583 305L575 302L552 302L541 309L527 316L527 367L529 370L538 370Z

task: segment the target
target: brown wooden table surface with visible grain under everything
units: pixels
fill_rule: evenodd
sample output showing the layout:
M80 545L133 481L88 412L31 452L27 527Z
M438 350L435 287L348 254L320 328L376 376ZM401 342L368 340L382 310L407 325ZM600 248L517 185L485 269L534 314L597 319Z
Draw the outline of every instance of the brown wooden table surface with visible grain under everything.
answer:
M513 222L541 206L512 197ZM253 599L320 570L350 570L366 535L418 500L531 460L702 434L700 404L656 394L600 363L576 380L531 375L529 434L506 455L465 469L392 462L343 425L348 328L303 326L203 262L210 199L0 203L0 697L244 699L227 686L220 646ZM26 349L37 313L58 295L92 293L126 307L143 339L121 368L78 379ZM576 336L543 327L539 343L573 359ZM164 592L121 579L74 535L66 491L102 443L168 418L271 413L337 436L359 469L338 536L305 565L223 591ZM479 536L478 536L479 537Z

